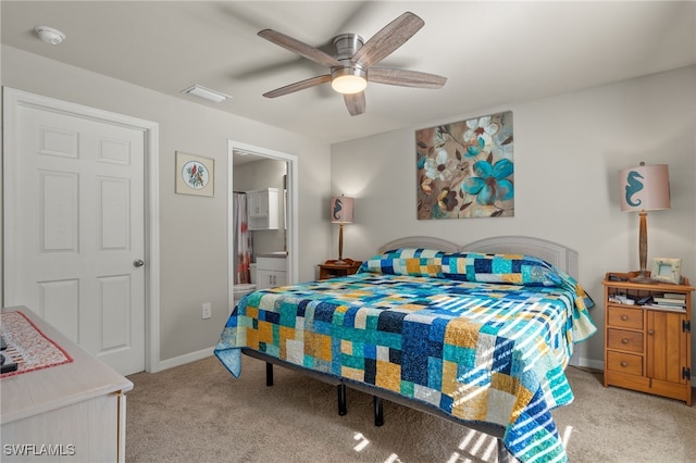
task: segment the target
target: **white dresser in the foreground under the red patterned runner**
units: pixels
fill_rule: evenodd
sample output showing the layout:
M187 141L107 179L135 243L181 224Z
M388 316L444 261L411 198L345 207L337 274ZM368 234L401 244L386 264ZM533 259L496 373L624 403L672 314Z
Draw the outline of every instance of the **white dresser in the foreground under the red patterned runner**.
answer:
M0 460L125 461L125 393L133 383L27 308L2 309L8 311L25 314L73 362L0 379Z

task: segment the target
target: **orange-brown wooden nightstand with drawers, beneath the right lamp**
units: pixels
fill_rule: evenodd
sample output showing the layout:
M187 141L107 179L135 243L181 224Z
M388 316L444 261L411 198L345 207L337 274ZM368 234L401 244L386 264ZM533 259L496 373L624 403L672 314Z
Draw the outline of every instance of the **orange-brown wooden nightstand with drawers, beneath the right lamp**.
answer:
M692 292L680 285L630 281L637 273L608 273L605 287L605 372L607 386L683 400L692 404ZM683 303L657 305L668 295Z

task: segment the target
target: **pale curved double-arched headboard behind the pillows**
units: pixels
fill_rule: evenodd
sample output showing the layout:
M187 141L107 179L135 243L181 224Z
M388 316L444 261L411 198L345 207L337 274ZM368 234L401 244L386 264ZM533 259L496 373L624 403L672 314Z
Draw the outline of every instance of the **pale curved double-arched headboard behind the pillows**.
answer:
M463 246L435 237L409 236L381 246L377 252L382 253L397 248L427 248L445 252L527 254L556 265L573 278L577 278L580 273L577 251L554 241L531 236L495 236Z

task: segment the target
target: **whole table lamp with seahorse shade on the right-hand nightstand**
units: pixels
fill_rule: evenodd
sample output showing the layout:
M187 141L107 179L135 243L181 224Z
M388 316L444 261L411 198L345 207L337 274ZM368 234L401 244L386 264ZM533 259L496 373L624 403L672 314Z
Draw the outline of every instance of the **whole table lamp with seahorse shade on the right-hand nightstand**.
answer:
M648 232L647 212L670 209L670 178L666 164L645 165L619 171L621 211L638 211L641 216L638 256L641 273L633 283L655 283L647 273Z

